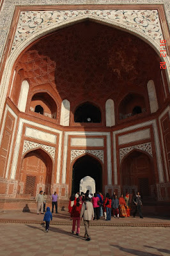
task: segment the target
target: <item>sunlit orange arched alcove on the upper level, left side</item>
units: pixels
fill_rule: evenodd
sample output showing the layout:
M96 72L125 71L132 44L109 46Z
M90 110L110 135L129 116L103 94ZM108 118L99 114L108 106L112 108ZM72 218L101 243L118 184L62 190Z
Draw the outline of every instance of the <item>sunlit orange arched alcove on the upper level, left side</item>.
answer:
M31 99L30 109L41 115L56 119L56 102L47 92L35 93Z

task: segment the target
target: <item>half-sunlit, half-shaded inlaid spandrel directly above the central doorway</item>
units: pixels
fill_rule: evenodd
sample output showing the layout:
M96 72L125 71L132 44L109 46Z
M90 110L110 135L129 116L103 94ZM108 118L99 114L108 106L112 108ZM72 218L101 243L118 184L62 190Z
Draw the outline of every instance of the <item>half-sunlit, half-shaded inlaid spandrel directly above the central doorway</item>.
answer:
M85 153L96 156L102 163L104 163L104 151L103 150L88 150L88 149L73 149L71 150L71 162L78 156L81 156Z

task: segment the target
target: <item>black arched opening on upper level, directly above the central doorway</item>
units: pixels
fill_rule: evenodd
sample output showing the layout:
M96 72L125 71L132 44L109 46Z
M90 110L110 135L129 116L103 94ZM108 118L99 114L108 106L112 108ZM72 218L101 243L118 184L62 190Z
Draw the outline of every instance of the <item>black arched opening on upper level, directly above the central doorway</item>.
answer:
M74 113L75 123L101 123L102 116L100 108L90 102L85 102L77 107Z

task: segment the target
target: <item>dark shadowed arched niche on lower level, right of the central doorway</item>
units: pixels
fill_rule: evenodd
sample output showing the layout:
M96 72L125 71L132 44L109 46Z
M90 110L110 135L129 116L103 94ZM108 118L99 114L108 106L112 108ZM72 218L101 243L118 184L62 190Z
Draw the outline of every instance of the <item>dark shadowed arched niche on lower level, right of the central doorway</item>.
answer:
M150 157L138 150L132 151L121 164L123 193L139 191L143 197L151 196L151 185L155 183Z

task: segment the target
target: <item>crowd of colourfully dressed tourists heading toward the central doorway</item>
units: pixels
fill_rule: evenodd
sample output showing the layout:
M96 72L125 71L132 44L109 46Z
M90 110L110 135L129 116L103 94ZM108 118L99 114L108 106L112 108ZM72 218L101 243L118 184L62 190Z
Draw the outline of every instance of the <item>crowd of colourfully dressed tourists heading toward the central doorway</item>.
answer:
M134 196L133 202L135 204L134 217L137 211L139 211L140 218L143 218L141 212L142 202L139 192ZM91 220L99 220L103 214L104 219L107 221L111 220L111 214L114 218L116 218L116 216L118 218L130 217L129 193L126 194L125 198L122 194L119 199L116 193L113 193L112 196L107 193L104 199L104 196L100 192L95 193L94 196L89 194L89 190L87 190L85 194L81 193L81 195L77 192L70 196L68 211L73 220L72 234L75 232L77 222L77 232L75 235L79 236L80 223L83 219L85 227L84 237L86 241L90 241L89 222Z

